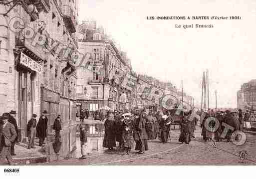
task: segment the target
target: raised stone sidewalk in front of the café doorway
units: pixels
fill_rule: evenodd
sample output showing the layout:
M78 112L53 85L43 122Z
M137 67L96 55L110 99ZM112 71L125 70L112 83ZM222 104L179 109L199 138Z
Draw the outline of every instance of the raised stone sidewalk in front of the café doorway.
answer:
M16 156L12 156L13 164L27 165L47 162L47 156L43 147L40 147L37 142L35 143L35 149L27 149L27 145L27 143L15 144ZM0 165L7 165L7 161Z

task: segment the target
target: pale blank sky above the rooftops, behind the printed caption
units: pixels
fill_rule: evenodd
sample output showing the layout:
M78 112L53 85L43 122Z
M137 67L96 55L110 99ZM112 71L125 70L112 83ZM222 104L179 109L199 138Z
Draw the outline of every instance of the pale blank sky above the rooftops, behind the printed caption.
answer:
M79 22L94 19L127 52L132 68L170 81L201 103L209 70L210 107L237 107L241 85L256 79L255 0L80 0ZM147 16L241 16L240 20L148 20ZM175 28L213 24L213 28Z

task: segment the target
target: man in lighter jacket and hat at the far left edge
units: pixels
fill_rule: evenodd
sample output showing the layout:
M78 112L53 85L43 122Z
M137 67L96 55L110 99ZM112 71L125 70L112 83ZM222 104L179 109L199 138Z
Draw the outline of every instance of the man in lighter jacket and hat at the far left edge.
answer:
M8 122L8 116L7 114L4 114L2 117L3 124L1 125L0 129L0 149L1 149L1 161L4 161L7 159L8 164L12 165L12 158L9 154L9 149L11 144L14 142L14 140L17 137L15 127Z

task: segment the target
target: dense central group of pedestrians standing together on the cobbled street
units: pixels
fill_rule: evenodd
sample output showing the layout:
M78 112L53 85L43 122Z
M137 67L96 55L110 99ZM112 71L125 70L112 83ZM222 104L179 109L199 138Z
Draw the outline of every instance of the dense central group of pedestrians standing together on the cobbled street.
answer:
M170 126L173 119L170 113L154 113L149 110L133 111L121 114L117 111L110 112L104 123L105 135L103 147L108 151L122 151L129 155L134 147L138 154L149 150L148 140L159 139L167 143L170 137ZM117 145L118 143L118 145Z

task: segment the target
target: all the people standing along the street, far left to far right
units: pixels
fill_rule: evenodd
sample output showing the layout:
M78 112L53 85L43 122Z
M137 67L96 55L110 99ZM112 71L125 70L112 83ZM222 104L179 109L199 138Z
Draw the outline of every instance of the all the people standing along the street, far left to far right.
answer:
M104 139L103 147L108 151L121 151L123 154L129 155L134 148L138 151L138 154L144 154L149 150L148 140L158 139L161 143L165 144L170 137L170 126L173 124L173 114L170 111L152 112L149 109L134 110L129 113L123 113L118 111L104 110L98 111L95 114L101 116L101 120L104 121ZM81 141L81 153L80 159L86 159L85 147L87 143L86 133L88 126L83 123L85 118L88 119L90 113L88 110L82 110L80 113L80 141ZM39 146L43 146L44 140L47 137L47 111L44 110L40 116L38 122L36 120L37 115L33 114L32 118L27 123L27 137L28 147L32 149L34 147L35 138L39 138ZM192 138L195 138L195 130L198 120L202 128L201 135L205 141L231 141L232 130L229 130L226 136L222 136L225 129L224 123L234 128L234 131L243 131L245 129L251 129L251 121L253 115L249 110L243 113L241 109L238 112L209 110L206 112L190 110L189 112L180 111L180 136L179 142L189 144ZM219 122L217 130L211 131L206 128L206 120L209 117L214 117ZM16 112L10 111L9 113L3 113L0 116L0 154L1 160L7 159L11 164L11 156L15 156L14 146L18 141L18 127L16 122ZM52 129L55 130L55 142L60 142L60 130L61 128L61 116L58 115L53 123ZM209 125L214 128L216 122L211 121ZM103 127L103 126L102 126Z

